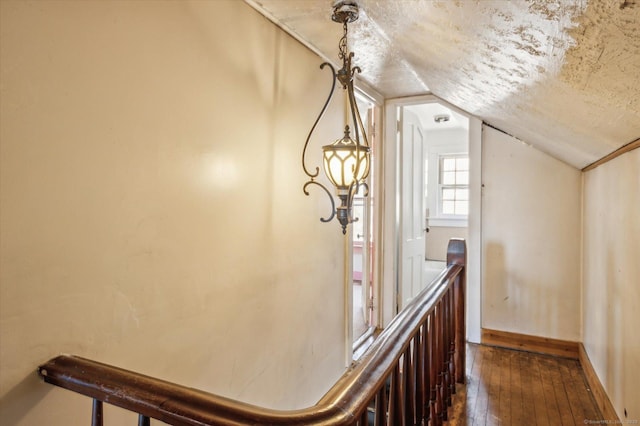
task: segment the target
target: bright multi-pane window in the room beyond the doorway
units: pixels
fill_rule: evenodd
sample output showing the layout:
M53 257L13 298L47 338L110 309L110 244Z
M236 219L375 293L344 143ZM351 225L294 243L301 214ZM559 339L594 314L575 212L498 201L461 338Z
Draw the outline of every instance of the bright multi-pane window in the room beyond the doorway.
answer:
M469 156L441 155L438 186L440 214L467 216L469 214Z

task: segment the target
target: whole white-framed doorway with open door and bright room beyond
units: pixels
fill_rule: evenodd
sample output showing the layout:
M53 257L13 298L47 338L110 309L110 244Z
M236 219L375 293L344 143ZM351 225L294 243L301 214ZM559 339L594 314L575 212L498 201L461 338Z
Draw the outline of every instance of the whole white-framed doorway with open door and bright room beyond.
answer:
M433 95L386 102L384 324L444 269L449 239L464 238L467 338L479 341L481 130Z

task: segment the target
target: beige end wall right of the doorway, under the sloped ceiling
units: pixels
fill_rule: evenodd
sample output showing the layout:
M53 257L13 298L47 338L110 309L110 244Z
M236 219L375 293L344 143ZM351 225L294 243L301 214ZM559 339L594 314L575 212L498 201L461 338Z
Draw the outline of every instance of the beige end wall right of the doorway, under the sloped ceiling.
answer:
M580 340L580 171L484 127L482 326Z

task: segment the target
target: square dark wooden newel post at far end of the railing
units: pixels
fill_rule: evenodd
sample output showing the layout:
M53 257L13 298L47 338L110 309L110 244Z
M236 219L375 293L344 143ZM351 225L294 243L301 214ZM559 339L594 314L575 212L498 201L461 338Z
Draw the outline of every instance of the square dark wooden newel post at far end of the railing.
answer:
M455 278L455 355L456 382L464 383L466 374L466 323L465 323L465 286L467 276L467 245L463 239L452 238L447 247L447 266L462 265L462 272Z

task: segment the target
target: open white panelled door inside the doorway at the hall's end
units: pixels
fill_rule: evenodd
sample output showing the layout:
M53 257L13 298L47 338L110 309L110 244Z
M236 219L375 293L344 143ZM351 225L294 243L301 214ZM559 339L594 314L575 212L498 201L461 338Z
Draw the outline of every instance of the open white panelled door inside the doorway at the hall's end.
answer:
M425 188L427 147L418 117L406 108L400 114L400 288L402 309L424 287Z

